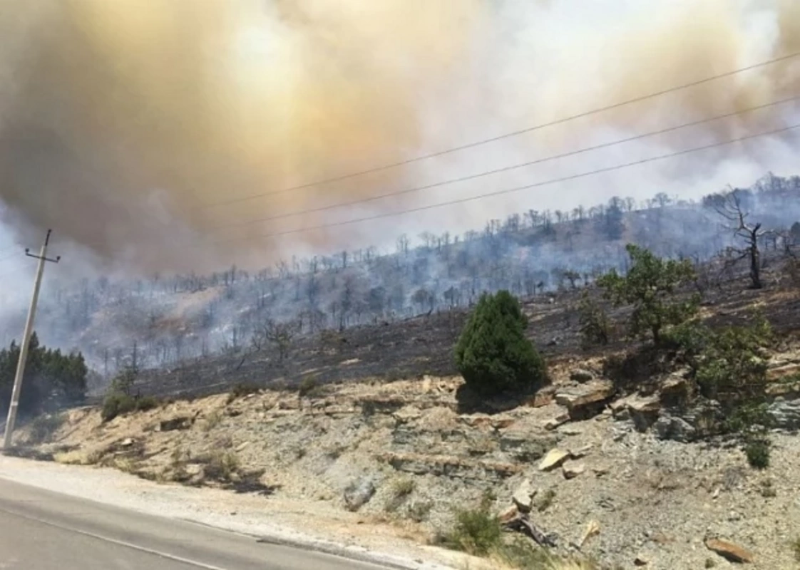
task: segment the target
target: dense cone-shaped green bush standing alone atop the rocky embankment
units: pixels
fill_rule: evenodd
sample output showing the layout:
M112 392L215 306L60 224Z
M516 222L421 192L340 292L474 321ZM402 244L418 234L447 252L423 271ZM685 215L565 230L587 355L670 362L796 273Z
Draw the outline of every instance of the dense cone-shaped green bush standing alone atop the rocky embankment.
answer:
M527 319L508 291L484 293L455 347L466 385L490 396L546 381L545 361L525 337Z

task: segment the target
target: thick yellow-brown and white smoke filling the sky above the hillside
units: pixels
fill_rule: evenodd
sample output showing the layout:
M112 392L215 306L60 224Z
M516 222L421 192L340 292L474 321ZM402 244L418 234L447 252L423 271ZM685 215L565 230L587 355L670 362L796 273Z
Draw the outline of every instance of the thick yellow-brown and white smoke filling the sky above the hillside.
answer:
M394 240L414 225L474 225L489 212L524 209L519 197L431 211L388 231L381 221L259 237L742 136L786 124L797 107L359 209L242 223L800 93L800 58L790 59L496 145L275 193L800 51L800 6L793 0L29 0L13 6L0 16L4 219L26 240L38 239L34 229L52 227L96 261L136 270L204 270L232 259L264 264L286 251ZM786 153L770 152L763 161L742 157L747 165L734 170L753 178L774 167L776 157L778 166L788 164ZM661 189L654 181L676 180L694 188L701 175L729 181L727 167L717 171L728 159L720 151L603 177L603 192L631 194L631 186L641 186L652 194ZM621 191L623 184L628 189ZM563 209L603 197L594 184L536 192L530 199L537 205ZM266 195L223 203L258 193Z

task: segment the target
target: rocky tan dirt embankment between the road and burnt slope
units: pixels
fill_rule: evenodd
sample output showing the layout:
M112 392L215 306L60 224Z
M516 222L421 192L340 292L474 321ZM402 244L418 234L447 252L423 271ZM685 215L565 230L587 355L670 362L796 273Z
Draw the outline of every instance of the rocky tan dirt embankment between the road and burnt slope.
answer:
M800 400L786 378L800 353L775 355L772 366L782 429L765 471L722 440L676 440L692 440L694 427L670 415L675 377L620 399L598 361L557 365L553 386L491 414L464 411L457 377L365 381L302 398L262 389L176 401L107 423L74 409L33 448L247 494L283 524L356 543L435 542L454 508L488 497L506 518L530 511L554 552L609 568L726 568L710 548L726 543L714 540L745 549L753 568L793 568L800 438L790 429Z

